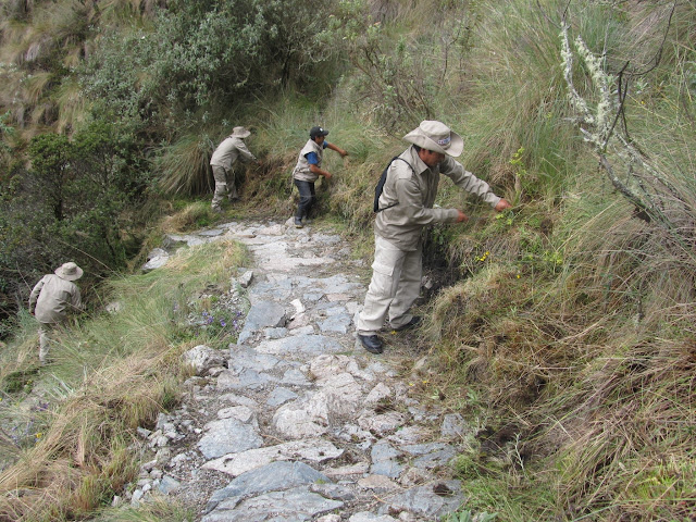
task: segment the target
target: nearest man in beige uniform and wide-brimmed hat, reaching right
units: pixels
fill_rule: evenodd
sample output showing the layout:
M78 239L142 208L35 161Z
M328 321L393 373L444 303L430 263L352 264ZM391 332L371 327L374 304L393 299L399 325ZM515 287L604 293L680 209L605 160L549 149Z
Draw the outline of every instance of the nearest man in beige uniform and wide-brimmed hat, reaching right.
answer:
M433 208L440 174L498 212L510 208L487 183L453 160L461 154L464 142L444 123L421 122L403 139L413 145L387 171L374 222L372 281L356 324L358 338L371 353L383 351L377 333L387 314L396 331L411 328L421 321L409 312L421 289L421 231L432 223L461 223L469 219L458 209Z

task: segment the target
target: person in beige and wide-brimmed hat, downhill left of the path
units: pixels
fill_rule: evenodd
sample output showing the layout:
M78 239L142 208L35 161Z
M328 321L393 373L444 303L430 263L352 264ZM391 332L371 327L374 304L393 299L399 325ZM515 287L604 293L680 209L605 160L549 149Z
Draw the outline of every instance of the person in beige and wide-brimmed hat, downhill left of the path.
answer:
M29 295L29 313L39 322L39 361L46 364L50 350L51 331L65 321L67 312L83 309L79 288L73 281L83 276L83 270L73 262L65 263L55 273L41 277Z

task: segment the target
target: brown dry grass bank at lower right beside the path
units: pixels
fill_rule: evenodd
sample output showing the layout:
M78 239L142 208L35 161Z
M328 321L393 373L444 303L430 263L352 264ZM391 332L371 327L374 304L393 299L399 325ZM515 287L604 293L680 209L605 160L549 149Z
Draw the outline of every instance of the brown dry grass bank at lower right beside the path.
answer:
M604 293L551 314L513 277L488 268L438 295L423 336L435 339L448 369L440 384L484 395L494 433L513 426L526 465L556 492L556 515L691 520L693 315L663 310L666 331L655 336L623 314L604 313ZM457 389L443 389L467 403ZM520 483L513 470L499 478L522 489L539 485Z

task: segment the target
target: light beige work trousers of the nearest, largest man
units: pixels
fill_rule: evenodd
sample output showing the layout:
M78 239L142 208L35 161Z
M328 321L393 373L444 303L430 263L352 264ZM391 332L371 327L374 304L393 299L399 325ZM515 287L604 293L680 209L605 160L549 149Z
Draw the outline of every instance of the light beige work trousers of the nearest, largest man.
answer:
M413 315L409 313L421 291L422 247L400 250L381 236L374 236L372 281L365 303L358 315L356 330L360 335L375 335L389 315L389 324L398 328Z

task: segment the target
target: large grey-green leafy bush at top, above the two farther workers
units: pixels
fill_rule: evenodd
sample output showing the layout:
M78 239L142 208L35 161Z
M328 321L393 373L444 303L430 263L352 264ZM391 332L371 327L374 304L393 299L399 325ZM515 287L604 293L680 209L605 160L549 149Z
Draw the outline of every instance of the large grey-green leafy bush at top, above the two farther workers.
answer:
M114 112L176 133L173 115L311 82L312 70L331 59L316 38L331 9L319 0L174 1L152 30L102 39L83 83Z

